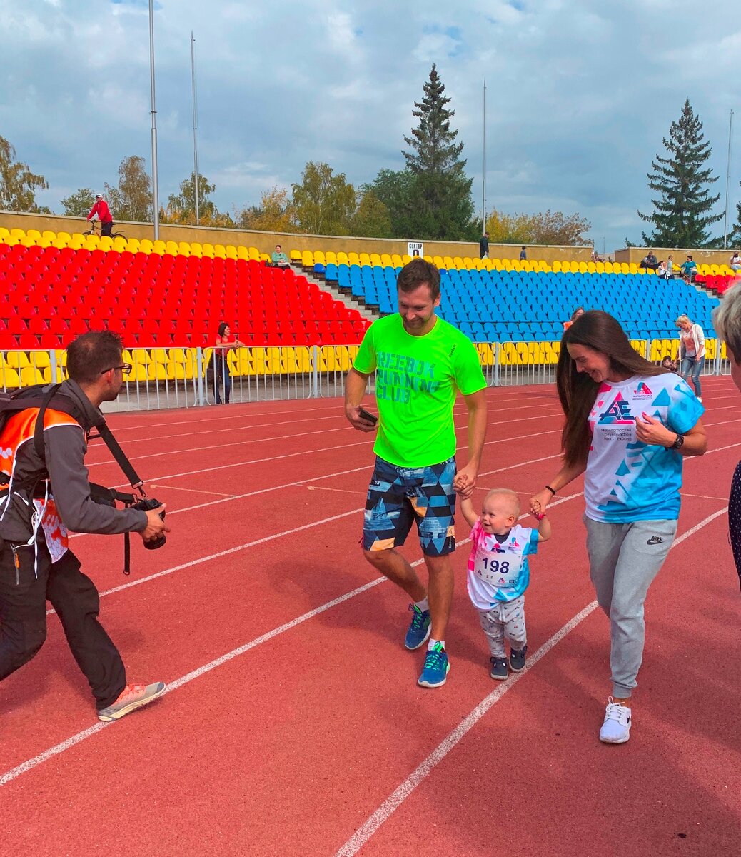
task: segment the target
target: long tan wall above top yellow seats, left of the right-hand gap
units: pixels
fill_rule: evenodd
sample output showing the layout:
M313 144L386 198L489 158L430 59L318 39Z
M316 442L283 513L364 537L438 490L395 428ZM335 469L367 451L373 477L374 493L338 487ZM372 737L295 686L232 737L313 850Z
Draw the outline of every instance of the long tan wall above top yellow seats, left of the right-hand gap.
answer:
M117 227L127 238L152 239L152 224L131 223L117 220ZM6 229L35 229L39 232L81 232L86 229L85 220L74 217L61 217L47 214L21 214L0 212L0 226ZM208 226L181 226L160 224L159 237L162 241L185 241L188 243L233 244L254 247L260 253L272 253L276 244L281 244L287 253L290 250L332 250L335 253L354 251L356 253L397 253L408 252L406 240L398 238L362 238L325 235L299 235L288 232L258 232L238 229L213 229ZM409 240L418 240L411 238ZM468 256L478 258L478 242L469 241L424 241L424 253L428 256ZM520 244L490 244L490 259L518 259ZM589 261L591 247L557 247L529 245L528 256L531 260L553 261Z

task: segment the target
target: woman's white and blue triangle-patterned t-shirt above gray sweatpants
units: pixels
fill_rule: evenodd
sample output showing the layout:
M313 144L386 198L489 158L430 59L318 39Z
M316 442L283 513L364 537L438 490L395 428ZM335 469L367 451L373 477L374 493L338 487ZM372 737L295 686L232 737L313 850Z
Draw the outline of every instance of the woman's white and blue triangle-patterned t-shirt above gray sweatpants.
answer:
M589 413L592 443L584 475L587 517L624 524L679 516L682 456L636 439L636 417L659 419L684 434L705 409L673 372L604 381Z

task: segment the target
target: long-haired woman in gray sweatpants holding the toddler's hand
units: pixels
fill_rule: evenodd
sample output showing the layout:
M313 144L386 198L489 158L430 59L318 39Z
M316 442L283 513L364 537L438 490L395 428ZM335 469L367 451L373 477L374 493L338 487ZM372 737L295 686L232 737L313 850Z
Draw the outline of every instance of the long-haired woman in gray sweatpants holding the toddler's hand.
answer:
M617 319L598 309L564 334L556 387L563 466L530 499L530 511L546 512L561 488L585 474L589 575L611 628L613 686L600 740L624 744L643 603L677 532L682 458L707 449L703 408L685 381L636 354Z

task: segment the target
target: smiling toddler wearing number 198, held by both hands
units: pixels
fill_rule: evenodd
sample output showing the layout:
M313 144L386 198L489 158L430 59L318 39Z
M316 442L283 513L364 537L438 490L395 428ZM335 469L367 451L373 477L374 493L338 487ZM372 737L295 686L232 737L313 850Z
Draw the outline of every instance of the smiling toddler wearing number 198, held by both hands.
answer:
M509 668L525 666L528 638L525 631L525 596L530 581L529 554L538 542L551 537L551 524L539 516L537 530L517 524L520 501L508 488L494 488L484 497L481 518L469 499L461 500L461 513L471 526L469 597L478 611L481 628L492 652L493 679L509 674L505 639L510 644Z

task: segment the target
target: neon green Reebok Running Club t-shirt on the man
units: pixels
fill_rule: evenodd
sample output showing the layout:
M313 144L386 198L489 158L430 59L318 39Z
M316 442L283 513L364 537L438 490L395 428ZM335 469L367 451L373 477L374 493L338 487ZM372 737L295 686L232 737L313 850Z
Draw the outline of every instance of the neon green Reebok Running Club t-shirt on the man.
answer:
M354 368L375 372L379 430L373 452L397 467L428 467L456 453L453 405L457 392L487 386L473 343L438 319L424 336L412 336L401 315L373 321Z

